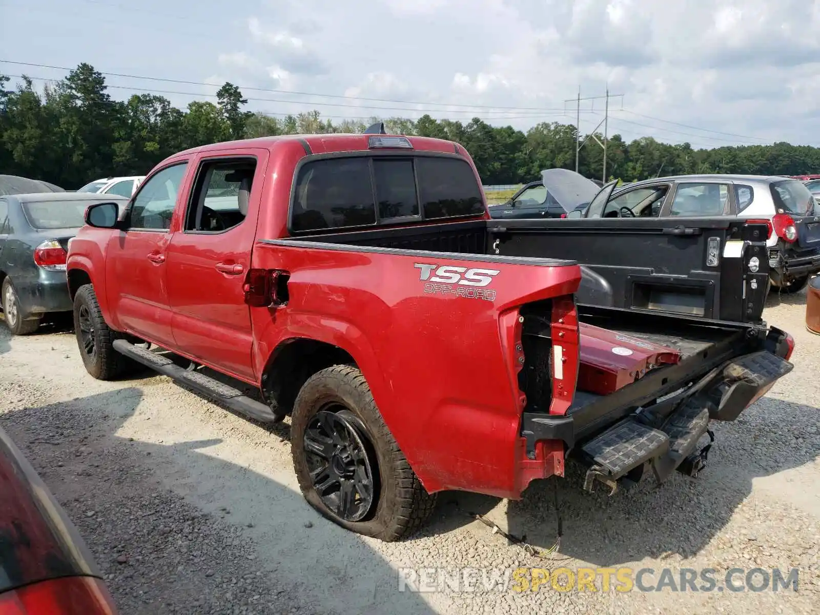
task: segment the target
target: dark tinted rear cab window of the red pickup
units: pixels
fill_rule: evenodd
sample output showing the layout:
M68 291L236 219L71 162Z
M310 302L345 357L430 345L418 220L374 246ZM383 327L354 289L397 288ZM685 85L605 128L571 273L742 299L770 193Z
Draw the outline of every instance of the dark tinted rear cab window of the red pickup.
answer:
M333 157L298 171L290 230L344 229L484 212L472 167L455 157Z

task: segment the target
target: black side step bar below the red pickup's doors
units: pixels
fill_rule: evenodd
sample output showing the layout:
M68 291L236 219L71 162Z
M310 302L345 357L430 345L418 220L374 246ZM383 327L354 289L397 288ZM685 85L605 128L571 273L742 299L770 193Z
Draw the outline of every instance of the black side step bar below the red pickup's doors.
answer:
M231 410L244 414L254 421L262 423L274 423L280 421L279 417L271 412L264 403L259 403L255 399L242 394L239 389L230 385L225 385L219 380L214 380L203 373L194 370L187 370L180 367L167 357L153 353L148 348L141 348L129 344L125 339L114 340L114 349L134 361L142 363L146 367L158 371L163 376L168 376L191 389L198 391L217 402L225 404Z

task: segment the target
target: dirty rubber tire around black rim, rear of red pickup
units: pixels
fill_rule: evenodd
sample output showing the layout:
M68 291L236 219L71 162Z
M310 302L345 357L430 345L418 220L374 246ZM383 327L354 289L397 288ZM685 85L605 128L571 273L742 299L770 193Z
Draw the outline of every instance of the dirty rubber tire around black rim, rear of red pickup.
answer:
M374 500L368 514L359 521L339 517L328 507L313 484L309 469L305 433L309 426L316 425L317 414L330 412L329 408L338 408L339 416L349 419L348 425L358 426L370 467L376 466ZM435 494L428 494L412 471L376 408L367 380L356 367L336 365L307 379L294 403L290 441L294 469L307 503L339 526L392 542L411 535L430 517Z

